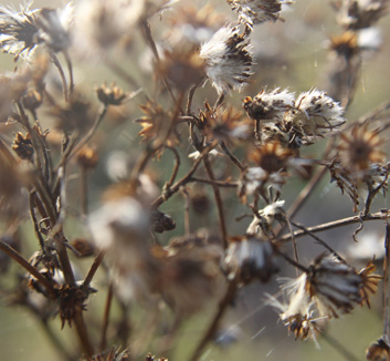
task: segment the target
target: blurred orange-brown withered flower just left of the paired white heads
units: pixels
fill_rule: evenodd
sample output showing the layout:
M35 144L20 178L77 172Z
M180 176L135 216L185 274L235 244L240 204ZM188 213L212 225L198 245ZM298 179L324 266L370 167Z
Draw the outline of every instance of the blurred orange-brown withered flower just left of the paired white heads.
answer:
M249 137L249 124L242 120L242 113L232 106L213 109L205 102L204 111L200 111L196 120L208 142L217 140L229 143Z

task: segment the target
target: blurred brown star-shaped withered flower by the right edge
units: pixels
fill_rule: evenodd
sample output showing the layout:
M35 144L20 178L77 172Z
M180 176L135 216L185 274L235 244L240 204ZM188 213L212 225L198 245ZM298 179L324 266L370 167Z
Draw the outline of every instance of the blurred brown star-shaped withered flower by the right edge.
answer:
M355 125L350 135L341 133L340 137L337 153L342 166L349 169L352 176L361 176L369 169L370 164L383 162L384 153L380 145L384 141L378 132L369 131L368 125Z

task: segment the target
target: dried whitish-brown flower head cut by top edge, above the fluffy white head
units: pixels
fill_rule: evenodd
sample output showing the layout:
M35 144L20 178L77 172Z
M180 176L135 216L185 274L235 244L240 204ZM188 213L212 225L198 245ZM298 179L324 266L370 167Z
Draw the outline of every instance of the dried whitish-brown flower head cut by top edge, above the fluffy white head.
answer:
M233 11L239 13L239 21L250 28L265 21L281 18L282 4L289 0L226 0Z

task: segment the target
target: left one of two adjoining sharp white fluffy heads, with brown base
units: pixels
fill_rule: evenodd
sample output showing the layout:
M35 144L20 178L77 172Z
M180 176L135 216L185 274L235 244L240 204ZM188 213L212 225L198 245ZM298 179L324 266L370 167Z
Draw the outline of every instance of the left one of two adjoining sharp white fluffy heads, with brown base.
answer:
M253 100L246 96L243 102L247 115L256 121L282 120L285 112L294 107L295 94L276 87L271 92L262 90Z

